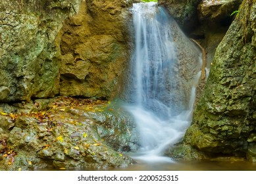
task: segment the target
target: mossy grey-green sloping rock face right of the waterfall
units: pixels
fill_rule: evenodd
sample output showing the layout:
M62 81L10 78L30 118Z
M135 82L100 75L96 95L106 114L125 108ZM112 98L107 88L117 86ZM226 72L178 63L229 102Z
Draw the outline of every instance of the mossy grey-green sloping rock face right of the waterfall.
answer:
M255 7L244 0L217 48L178 157L235 155L255 161Z

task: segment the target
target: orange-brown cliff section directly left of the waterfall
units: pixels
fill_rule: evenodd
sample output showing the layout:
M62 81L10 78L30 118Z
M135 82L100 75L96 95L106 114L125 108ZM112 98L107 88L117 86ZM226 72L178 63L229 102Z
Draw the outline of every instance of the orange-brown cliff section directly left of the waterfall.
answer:
M128 64L126 1L86 1L64 22L61 95L113 97Z

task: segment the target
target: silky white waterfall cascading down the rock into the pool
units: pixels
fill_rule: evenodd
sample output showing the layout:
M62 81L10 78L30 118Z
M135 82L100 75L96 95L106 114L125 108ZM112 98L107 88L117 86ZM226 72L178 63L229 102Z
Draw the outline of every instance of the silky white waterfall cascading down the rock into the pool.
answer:
M135 158L170 161L165 149L190 126L200 53L157 3L135 3L132 14L135 50L125 107L139 131Z

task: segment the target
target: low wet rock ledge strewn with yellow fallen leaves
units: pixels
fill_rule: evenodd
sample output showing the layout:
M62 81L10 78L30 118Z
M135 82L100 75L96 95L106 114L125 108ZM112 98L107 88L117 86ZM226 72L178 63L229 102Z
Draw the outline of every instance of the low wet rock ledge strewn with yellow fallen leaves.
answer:
M49 112L20 114L7 137L1 137L15 155L12 164L6 158L0 160L0 170L91 170L134 163L124 152L138 148L136 133L132 120L121 115L122 109L114 104L52 102Z

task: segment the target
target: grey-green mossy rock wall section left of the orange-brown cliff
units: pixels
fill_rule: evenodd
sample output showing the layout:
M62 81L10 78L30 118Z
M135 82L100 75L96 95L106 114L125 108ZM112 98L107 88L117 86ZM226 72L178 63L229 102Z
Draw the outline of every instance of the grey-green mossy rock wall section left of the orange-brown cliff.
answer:
M57 35L74 1L0 2L0 101L59 93Z

